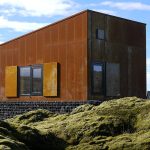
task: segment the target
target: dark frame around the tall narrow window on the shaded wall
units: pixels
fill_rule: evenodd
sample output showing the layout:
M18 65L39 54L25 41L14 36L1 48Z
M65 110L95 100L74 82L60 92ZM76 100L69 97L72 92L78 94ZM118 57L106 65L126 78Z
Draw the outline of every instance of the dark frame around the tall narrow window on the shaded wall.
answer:
M95 92L94 91L94 78L93 78L93 70L94 70L94 65L101 65L102 66L102 92ZM91 94L92 95L100 95L100 96L105 96L106 95L106 64L105 62L93 62L91 64Z

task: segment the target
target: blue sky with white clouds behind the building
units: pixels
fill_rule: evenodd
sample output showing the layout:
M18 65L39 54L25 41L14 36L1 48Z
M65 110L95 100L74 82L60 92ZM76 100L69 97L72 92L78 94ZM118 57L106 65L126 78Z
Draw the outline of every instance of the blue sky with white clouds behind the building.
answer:
M0 43L85 9L147 24L147 90L150 90L149 0L0 0Z

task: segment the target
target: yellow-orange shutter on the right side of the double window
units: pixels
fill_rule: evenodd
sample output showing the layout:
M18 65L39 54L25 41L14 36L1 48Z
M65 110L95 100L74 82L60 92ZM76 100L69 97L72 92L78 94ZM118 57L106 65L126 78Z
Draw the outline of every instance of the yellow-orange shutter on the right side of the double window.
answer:
M57 68L57 62L44 64L43 96L57 96Z

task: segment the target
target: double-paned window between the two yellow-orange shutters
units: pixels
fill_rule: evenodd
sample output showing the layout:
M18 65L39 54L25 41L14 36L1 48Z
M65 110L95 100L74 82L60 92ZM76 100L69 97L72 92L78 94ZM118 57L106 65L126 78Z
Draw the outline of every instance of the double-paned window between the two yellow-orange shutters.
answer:
M20 95L42 95L42 66L20 67Z

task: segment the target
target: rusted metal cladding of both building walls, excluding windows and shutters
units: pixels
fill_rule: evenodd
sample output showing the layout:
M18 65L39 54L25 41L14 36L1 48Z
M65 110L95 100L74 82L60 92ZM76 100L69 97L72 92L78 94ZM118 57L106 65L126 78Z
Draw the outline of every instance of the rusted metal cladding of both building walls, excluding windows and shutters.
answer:
M97 28L104 30L104 40L96 39ZM119 64L120 97L145 97L145 34L145 24L88 10L6 42L0 45L0 99L85 101L105 98L106 86L103 94L92 94L93 62ZM5 96L7 66L50 62L59 64L57 96ZM109 74L107 76L109 78ZM106 84L108 87L109 82Z

